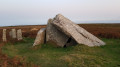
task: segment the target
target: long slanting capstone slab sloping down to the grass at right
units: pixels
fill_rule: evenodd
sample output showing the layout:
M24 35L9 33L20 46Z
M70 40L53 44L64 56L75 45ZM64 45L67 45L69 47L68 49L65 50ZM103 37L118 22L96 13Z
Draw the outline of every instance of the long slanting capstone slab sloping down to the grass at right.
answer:
M103 41L101 41L100 39L98 39L91 33L87 32L85 29L83 29L79 25L73 23L71 20L65 18L60 14L56 15L56 17L52 20L51 24L64 33L64 34L58 35L58 34L55 34L56 33L55 31L52 32L53 35L51 36L54 37L58 35L59 37L61 37L62 41L61 40L58 40L58 41L66 42L69 36L73 38L78 44L84 44L91 47L105 45ZM55 29L54 26L52 26L53 29Z

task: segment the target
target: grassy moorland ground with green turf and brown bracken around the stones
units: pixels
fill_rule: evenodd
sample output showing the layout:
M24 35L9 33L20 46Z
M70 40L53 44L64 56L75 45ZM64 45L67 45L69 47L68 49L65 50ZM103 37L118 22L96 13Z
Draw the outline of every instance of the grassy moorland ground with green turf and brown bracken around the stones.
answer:
M107 45L92 48L84 45L54 48L43 44L42 48L33 48L37 32L46 25L0 27L0 67L120 67L120 24L79 25L101 37ZM23 42L9 38L9 31L13 28L22 29L25 37ZM3 29L7 29L8 43L5 45L2 43Z

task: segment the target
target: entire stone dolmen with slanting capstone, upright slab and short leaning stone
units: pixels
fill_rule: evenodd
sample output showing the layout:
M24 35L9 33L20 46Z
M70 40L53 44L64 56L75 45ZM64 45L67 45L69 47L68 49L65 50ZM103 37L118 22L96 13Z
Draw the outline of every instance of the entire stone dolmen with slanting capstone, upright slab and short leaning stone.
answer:
M83 44L89 47L105 45L102 40L61 14L56 15L53 19L49 19L46 29L40 31L33 46L45 42L57 47L67 47L76 44Z

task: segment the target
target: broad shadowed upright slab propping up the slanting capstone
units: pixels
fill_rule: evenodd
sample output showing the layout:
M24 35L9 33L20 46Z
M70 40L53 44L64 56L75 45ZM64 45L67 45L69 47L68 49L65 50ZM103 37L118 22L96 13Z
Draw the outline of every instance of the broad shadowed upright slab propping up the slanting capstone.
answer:
M47 43L51 43L59 47L65 47L76 44L76 42L72 38L61 32L53 24L51 24L52 22L53 22L52 19L48 20L47 29L46 29Z

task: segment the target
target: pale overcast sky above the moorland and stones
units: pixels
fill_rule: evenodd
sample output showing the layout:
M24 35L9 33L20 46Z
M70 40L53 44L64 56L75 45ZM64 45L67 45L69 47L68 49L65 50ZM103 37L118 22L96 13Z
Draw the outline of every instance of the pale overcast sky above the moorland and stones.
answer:
M62 14L81 21L120 20L120 0L0 0L0 25L46 24Z

